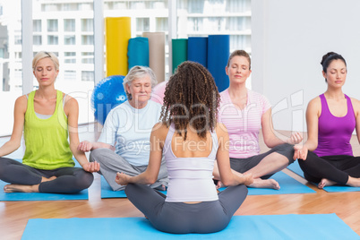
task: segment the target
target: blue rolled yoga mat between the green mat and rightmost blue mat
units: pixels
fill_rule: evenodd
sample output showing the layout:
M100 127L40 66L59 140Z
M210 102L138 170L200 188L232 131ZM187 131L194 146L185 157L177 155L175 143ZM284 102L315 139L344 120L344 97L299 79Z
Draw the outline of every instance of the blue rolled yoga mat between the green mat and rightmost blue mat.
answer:
M187 60L208 67L207 37L189 37L187 42Z

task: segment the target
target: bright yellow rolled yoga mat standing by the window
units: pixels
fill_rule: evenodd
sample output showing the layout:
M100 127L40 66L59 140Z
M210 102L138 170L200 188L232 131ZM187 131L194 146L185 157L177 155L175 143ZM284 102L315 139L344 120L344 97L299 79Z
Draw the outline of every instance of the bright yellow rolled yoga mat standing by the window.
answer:
M130 17L106 18L107 77L128 72L127 46L131 39Z

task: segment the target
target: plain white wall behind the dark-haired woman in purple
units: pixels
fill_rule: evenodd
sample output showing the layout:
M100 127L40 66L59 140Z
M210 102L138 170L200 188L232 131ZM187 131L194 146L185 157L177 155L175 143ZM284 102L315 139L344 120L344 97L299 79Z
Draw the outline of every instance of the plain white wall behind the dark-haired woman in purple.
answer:
M309 100L327 85L321 57L347 61L344 92L360 99L360 1L252 0L252 89L272 104L276 130L306 131Z

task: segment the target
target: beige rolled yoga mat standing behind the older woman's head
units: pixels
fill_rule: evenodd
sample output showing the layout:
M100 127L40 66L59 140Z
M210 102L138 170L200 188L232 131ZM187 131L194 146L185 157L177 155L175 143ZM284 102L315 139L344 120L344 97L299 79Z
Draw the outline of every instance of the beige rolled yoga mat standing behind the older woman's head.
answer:
M143 32L142 37L149 39L149 67L158 82L165 81L165 33Z

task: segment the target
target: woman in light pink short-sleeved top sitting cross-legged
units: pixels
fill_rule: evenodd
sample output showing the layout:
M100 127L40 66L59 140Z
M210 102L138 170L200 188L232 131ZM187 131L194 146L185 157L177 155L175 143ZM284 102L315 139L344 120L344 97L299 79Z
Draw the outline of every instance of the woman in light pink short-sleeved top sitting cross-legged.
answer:
M275 135L269 100L246 88L252 70L250 56L244 50L236 50L229 56L225 70L230 86L220 93L219 122L227 127L231 168L236 174L253 174L251 187L279 189L279 183L270 176L294 162L292 144L303 137L294 133L281 140ZM260 130L271 149L264 153L260 153ZM216 167L214 177L219 179Z

